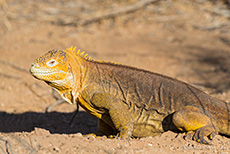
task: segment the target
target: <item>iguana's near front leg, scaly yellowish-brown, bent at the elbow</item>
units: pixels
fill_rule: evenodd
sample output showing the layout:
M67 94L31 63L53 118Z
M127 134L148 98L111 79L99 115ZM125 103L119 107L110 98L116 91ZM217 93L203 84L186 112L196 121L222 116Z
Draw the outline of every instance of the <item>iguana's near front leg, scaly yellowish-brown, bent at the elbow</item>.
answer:
M108 111L107 114L109 114L110 119L105 115L102 116L101 120L118 130L119 138L128 139L131 137L133 131L133 116L124 102L106 93L96 93L90 101L95 107L104 108Z

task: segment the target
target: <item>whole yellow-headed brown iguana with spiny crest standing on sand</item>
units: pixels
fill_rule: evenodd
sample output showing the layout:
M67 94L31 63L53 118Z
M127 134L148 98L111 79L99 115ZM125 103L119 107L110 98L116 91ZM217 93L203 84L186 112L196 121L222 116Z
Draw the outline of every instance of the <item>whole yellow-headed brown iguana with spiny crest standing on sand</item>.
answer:
M206 136L230 135L230 104L167 76L93 61L73 47L49 51L30 72L97 117L97 135L118 132L126 139L180 130L205 144Z

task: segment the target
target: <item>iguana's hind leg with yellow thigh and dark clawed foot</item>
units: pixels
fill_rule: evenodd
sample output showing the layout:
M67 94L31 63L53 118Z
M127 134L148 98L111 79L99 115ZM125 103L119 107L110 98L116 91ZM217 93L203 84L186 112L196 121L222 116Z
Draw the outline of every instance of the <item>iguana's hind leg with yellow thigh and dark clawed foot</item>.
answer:
M187 132L185 138L193 134L192 138L199 143L210 144L204 137L212 139L216 135L214 122L194 106L187 106L176 111L173 114L172 121L177 129Z

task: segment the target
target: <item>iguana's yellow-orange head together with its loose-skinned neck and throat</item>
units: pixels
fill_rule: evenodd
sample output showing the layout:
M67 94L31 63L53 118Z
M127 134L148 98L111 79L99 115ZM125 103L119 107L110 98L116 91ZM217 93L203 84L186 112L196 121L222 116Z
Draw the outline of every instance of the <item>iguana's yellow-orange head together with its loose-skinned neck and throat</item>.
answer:
M55 88L69 103L74 102L81 81L81 58L75 48L50 50L31 64L31 74Z

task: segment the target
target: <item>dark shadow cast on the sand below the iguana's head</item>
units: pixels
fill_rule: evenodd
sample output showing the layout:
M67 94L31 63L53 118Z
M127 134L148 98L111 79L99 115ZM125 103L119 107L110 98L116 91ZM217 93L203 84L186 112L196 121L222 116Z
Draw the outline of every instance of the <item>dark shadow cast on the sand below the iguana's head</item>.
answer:
M38 113L25 112L13 114L0 112L0 132L31 132L35 127L43 128L50 133L88 134L97 131L97 120L84 111L79 111L73 122L70 124L72 113Z

